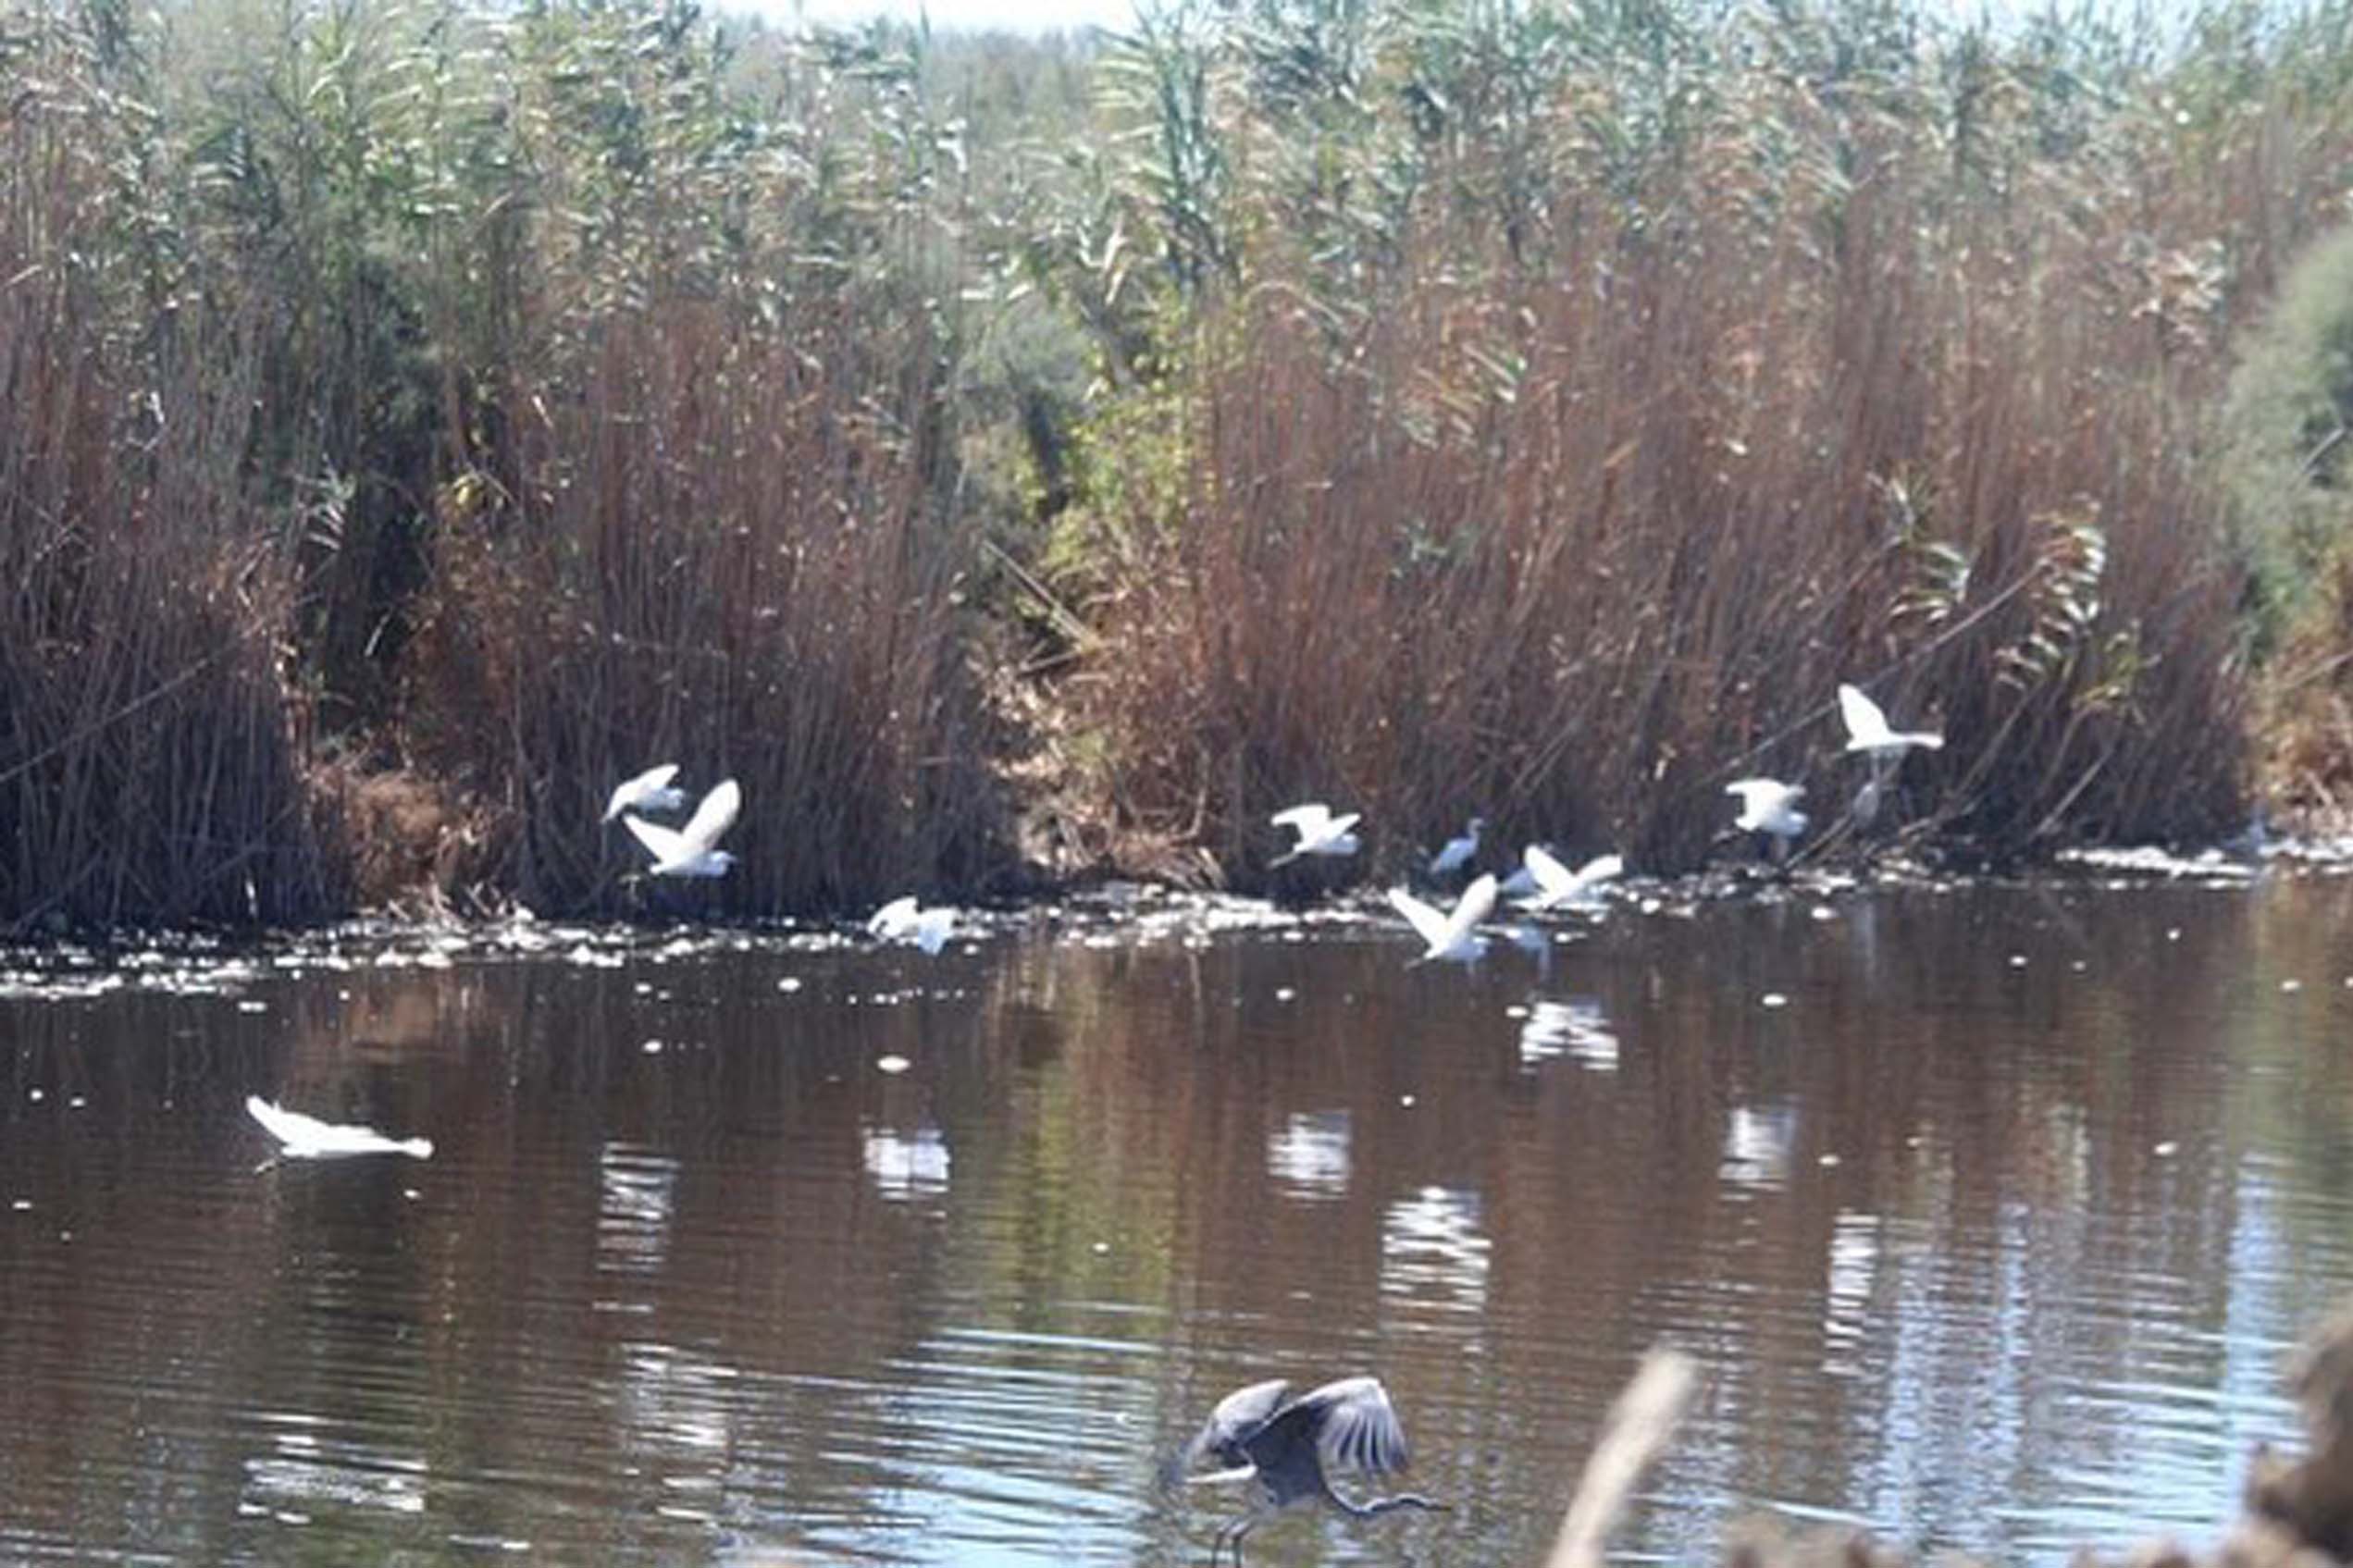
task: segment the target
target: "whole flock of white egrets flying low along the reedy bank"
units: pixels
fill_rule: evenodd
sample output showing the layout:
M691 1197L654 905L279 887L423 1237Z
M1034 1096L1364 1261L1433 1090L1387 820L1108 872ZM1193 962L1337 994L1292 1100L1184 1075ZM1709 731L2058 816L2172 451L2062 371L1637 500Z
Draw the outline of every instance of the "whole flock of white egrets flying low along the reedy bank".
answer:
M1868 823L1878 811L1887 778L1911 750L1939 750L1944 736L1934 731L1899 731L1887 724L1887 715L1854 686L1838 689L1838 712L1847 724L1847 750L1871 759L1871 778L1854 797L1857 823ZM605 823L621 818L621 825L652 856L652 877L725 877L734 856L718 846L736 816L744 813L744 790L734 778L722 778L696 802L685 827L668 827L647 820L645 813L668 813L687 804L685 790L675 785L678 764L664 762L614 788L605 804ZM1769 853L1781 860L1793 839L1805 835L1807 816L1798 809L1805 785L1779 778L1734 778L1725 790L1739 797L1734 827L1765 835ZM1271 865L1287 865L1306 856L1346 858L1362 844L1355 811L1334 813L1322 802L1306 802L1273 816L1275 827L1289 827L1297 842ZM1485 818L1471 818L1461 837L1431 856L1431 877L1457 877L1478 863ZM1591 905L1600 886L1619 877L1626 863L1619 856L1595 856L1579 867L1569 867L1541 844L1520 851L1520 865L1506 877L1480 872L1454 900L1452 910L1395 886L1388 889L1391 907L1405 917L1421 938L1424 952L1417 961L1452 959L1473 961L1487 950L1480 926L1494 914L1501 898L1511 898L1520 910L1541 914ZM939 952L955 936L955 910L948 905L922 907L913 896L894 898L866 922L866 931L885 943L911 943L922 952ZM320 1121L301 1112L252 1095L245 1110L278 1140L280 1159L334 1159L348 1154L407 1154L431 1159L433 1143L426 1138L388 1138L369 1126L344 1126Z

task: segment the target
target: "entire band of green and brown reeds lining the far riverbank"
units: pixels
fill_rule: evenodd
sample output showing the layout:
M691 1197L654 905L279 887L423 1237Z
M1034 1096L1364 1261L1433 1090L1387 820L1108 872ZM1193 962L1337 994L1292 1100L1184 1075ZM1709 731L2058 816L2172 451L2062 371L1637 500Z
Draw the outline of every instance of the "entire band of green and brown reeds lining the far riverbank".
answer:
M1955 851L2341 804L2348 24L19 0L0 917L628 907L661 759L715 912L1671 870L1840 679Z

